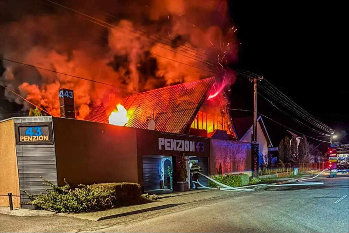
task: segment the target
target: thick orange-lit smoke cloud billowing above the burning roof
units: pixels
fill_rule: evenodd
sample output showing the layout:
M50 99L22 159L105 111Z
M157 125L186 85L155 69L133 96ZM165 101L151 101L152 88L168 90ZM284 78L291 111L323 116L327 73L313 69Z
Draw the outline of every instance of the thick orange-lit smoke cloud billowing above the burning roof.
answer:
M24 5L9 15L6 8L20 7L20 3L3 2L10 5L0 5L2 17L11 20L0 25L0 56L58 73L3 61L5 72L0 82L44 106L53 116L59 116L59 88L74 90L77 117L83 119L90 111L89 104L103 101L110 92L121 98L138 91L214 76L204 71L217 70L207 64L213 61L194 54L192 49L205 51L211 59L216 59L224 46L228 50L227 58L236 58L233 38L229 38L229 47L223 44L229 29L225 1L85 0L84 7L59 1L93 16L92 21L112 24L109 28L86 20L86 16L73 15L57 6L42 6L37 1L30 1L31 7ZM24 109L30 107L8 90L5 96L23 104Z

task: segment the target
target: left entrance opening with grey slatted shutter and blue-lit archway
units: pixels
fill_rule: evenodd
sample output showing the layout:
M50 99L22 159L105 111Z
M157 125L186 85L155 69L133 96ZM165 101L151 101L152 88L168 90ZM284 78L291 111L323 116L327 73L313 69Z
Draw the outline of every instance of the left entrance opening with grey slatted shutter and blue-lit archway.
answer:
M172 191L172 158L165 155L143 155L144 192Z

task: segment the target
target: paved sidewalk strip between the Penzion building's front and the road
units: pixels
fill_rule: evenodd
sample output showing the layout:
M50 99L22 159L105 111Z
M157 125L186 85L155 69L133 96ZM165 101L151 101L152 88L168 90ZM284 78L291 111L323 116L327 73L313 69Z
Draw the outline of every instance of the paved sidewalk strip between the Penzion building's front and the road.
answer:
M302 177L285 177L272 180L272 182L263 182L268 184L282 184L282 183L292 183L301 178L305 178L305 175ZM259 190L265 188L265 186L255 187L255 190ZM243 191L237 191L243 192ZM236 193L237 193L236 192ZM8 207L0 207L1 214L9 214L14 216L66 216L66 217L74 217L87 219L92 221L99 221L103 219L116 218L120 216L126 216L130 214L142 213L147 211L165 209L181 204L186 204L190 202L196 202L201 200L207 200L210 198L216 198L224 195L229 195L232 192L230 191L222 191L215 189L198 189L198 190L190 190L187 192L173 192L170 194L162 194L158 195L161 199L156 202L151 202L142 205L133 205L133 206L125 206L118 207L110 210L98 211L98 212L90 212L90 213L56 213L54 211L49 210L28 210L28 209L14 209L10 211Z

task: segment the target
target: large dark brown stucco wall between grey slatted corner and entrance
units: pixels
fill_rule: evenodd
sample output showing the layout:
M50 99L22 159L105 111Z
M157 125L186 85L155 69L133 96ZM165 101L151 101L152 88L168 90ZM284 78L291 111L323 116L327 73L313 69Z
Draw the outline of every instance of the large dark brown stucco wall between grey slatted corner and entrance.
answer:
M136 129L53 118L58 184L138 182Z

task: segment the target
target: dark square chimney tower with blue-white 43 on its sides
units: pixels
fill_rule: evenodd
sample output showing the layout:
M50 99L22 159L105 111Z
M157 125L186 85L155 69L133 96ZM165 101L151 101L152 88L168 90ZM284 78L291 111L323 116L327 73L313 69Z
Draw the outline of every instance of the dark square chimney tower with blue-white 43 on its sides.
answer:
M70 89L59 89L59 107L61 117L75 119L74 91Z

